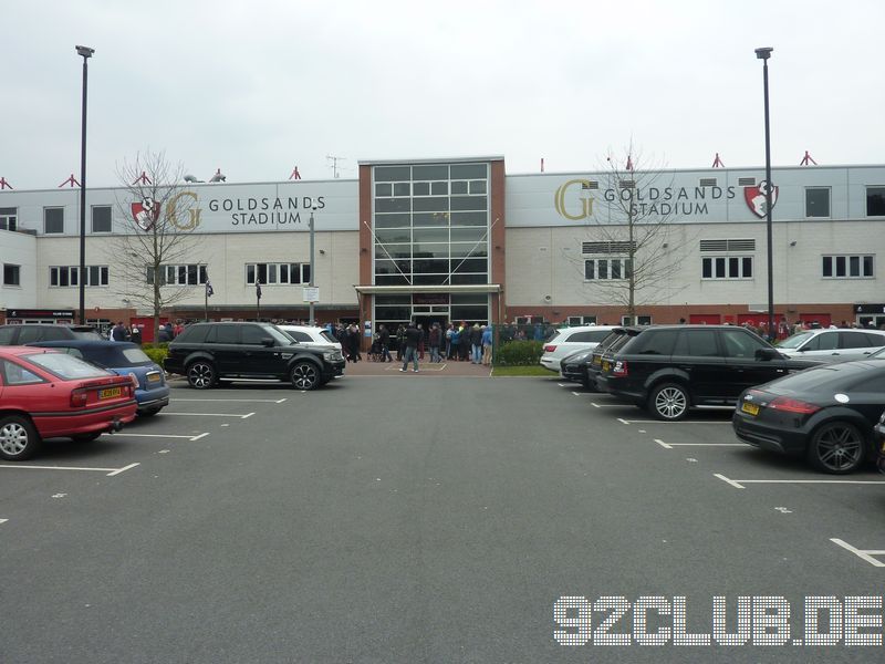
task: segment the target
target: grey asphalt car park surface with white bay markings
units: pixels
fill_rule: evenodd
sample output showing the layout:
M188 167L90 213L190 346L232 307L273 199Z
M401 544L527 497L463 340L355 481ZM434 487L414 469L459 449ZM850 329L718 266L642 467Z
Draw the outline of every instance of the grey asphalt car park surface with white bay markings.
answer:
M780 647L662 650L560 645L554 606L685 596L704 633L717 595L881 598L884 522L872 469L554 378L176 386L121 434L0 466L0 661L881 661L796 647L799 609Z

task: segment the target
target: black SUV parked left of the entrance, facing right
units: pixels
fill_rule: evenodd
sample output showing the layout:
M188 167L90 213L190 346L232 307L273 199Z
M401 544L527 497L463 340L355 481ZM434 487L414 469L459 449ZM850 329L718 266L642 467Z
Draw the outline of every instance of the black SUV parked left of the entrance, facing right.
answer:
M169 343L163 366L197 390L237 378L315 390L344 374L344 357L335 349L302 345L269 323L195 323Z

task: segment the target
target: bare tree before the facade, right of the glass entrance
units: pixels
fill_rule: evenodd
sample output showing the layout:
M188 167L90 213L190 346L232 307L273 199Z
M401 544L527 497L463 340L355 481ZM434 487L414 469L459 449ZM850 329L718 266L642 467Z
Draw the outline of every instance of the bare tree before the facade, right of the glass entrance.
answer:
M601 169L592 210L587 210L587 242L580 269L592 284L594 301L621 305L629 323L636 311L687 288L674 282L681 264L674 257L691 238L678 220L678 205L669 198L673 177L659 165L645 164L631 145L623 157L611 152ZM592 264L589 264L592 261Z

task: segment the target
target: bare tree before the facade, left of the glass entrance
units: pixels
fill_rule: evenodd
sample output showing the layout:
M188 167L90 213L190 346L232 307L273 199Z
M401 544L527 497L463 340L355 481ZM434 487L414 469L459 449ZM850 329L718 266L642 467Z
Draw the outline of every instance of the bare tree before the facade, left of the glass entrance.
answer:
M199 283L166 276L166 266L197 264L194 229L199 224L196 196L185 190L184 168L171 165L163 152L138 153L117 166L122 191L117 195L117 234L108 257L117 270L115 293L154 317L154 340L159 339L160 312L187 298ZM189 283L194 281L195 283ZM190 288L188 288L190 286Z

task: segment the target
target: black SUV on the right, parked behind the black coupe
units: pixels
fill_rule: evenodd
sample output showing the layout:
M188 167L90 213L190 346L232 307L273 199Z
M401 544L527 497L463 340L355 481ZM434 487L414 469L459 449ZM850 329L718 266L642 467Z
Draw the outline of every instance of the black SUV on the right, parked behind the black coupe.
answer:
M733 406L748 387L818 364L787 360L757 334L735 325L623 330L626 341L602 355L596 385L647 407L659 419L681 419L691 407Z

